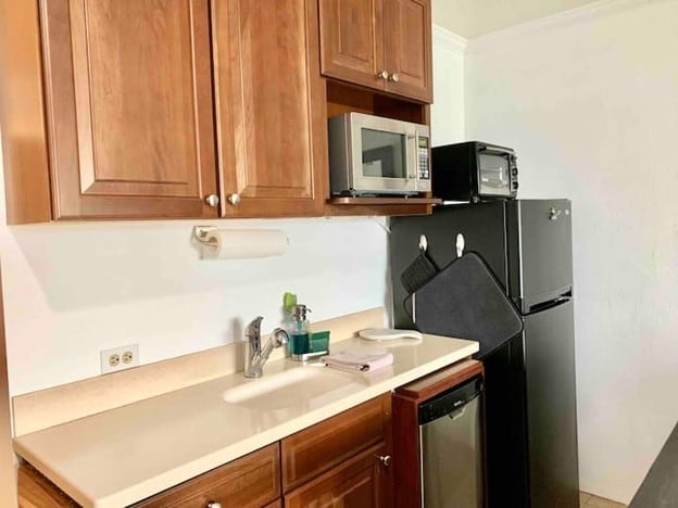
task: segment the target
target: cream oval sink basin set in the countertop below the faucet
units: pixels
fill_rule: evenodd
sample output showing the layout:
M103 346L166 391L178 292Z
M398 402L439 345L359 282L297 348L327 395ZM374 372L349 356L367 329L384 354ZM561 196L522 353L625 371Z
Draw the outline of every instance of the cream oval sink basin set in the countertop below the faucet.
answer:
M326 367L300 366L228 389L223 398L229 404L260 411L300 406L313 409L364 386L360 374L337 372Z

